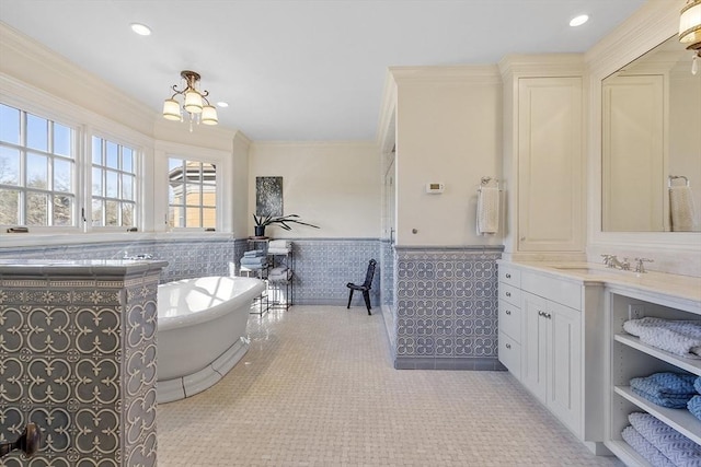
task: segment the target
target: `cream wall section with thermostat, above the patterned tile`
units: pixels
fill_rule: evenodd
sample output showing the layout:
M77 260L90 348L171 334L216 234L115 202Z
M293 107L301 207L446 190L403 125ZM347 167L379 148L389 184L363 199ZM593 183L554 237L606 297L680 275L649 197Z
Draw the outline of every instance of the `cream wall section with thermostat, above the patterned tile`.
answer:
M398 86L397 244L499 245L501 233L475 232L480 179L502 173L498 70L427 67L391 72ZM445 191L426 194L427 183L443 183Z

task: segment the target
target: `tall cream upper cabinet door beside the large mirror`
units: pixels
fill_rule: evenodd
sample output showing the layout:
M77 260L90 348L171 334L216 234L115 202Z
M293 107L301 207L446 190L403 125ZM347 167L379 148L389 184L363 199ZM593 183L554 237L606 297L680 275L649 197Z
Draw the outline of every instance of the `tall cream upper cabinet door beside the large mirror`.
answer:
M518 250L579 252L582 79L518 80Z

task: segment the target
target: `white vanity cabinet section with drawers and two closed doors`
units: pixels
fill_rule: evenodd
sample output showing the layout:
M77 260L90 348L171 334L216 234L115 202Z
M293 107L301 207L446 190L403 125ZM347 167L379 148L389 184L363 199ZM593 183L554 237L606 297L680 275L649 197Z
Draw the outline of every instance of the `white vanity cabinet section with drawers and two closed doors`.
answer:
M602 285L505 260L498 261L498 276L499 361L599 453L605 388Z

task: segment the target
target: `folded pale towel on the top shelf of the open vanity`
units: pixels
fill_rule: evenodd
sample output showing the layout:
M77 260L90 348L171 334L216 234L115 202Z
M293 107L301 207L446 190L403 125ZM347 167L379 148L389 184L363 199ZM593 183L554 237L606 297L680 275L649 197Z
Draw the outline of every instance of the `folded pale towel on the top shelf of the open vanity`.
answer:
M671 320L651 316L630 319L623 329L648 346L688 359L701 359L701 320Z

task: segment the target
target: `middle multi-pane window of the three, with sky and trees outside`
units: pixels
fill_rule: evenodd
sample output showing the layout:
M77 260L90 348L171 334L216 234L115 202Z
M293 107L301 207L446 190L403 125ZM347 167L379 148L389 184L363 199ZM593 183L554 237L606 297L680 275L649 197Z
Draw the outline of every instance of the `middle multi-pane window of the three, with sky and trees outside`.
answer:
M135 150L92 138L92 226L134 226Z

